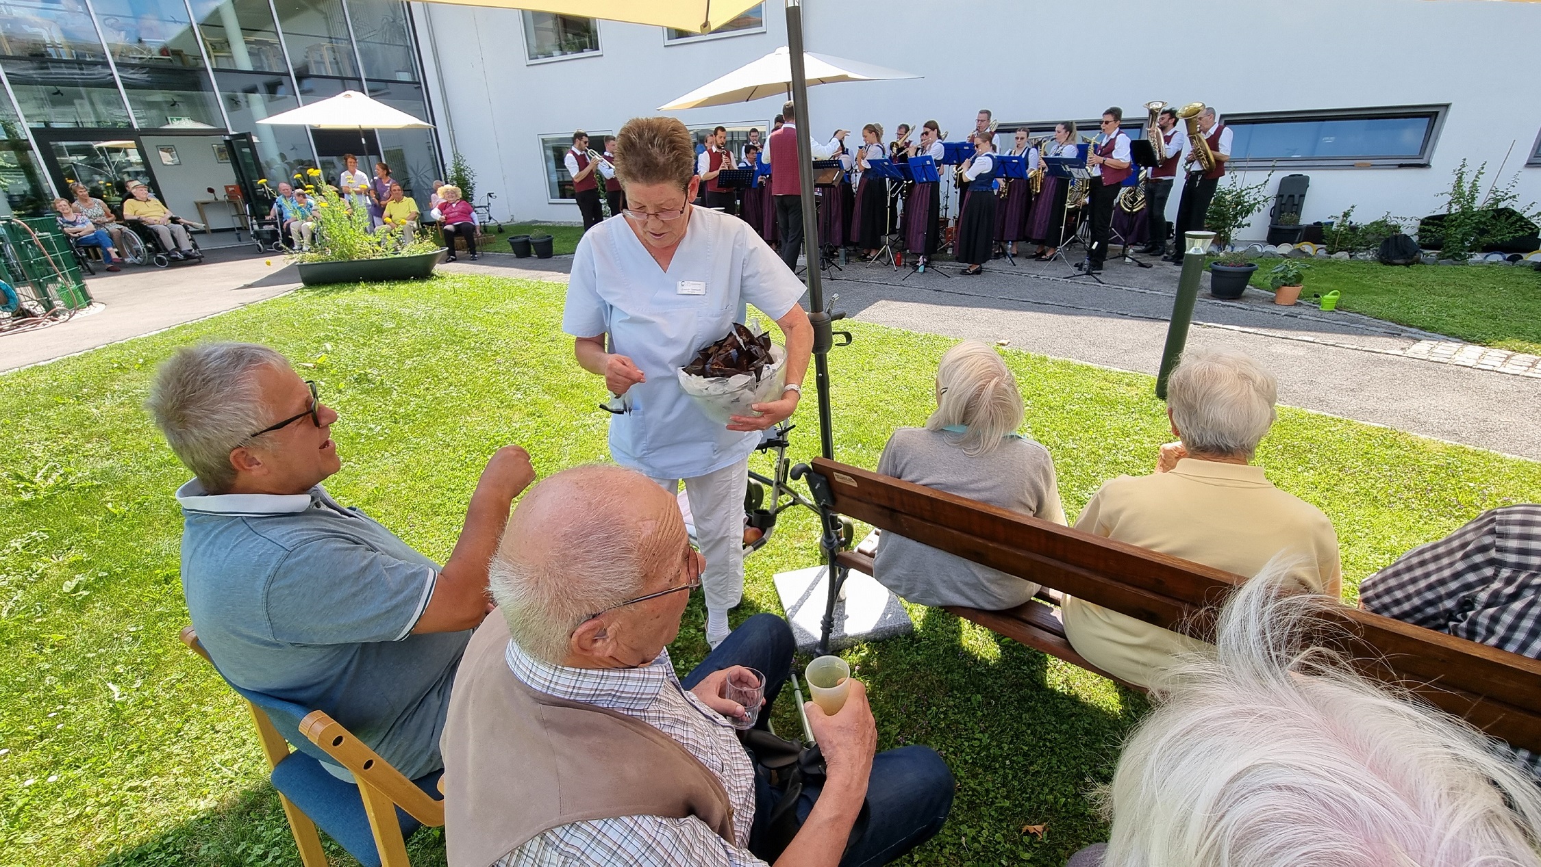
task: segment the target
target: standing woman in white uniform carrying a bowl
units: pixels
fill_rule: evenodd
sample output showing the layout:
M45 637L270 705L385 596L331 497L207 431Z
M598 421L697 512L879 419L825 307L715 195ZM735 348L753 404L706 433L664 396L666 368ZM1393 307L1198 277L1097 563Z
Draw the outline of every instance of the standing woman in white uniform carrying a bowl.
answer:
M744 490L760 431L797 408L814 345L798 306L803 283L749 228L695 208L700 179L690 132L672 117L636 117L616 136L615 176L627 209L578 242L562 331L589 373L624 410L610 419L610 456L670 491L684 480L706 556L706 638L727 638L727 610L744 588ZM676 371L744 322L746 305L775 319L786 340L786 391L760 416L726 427L684 394Z

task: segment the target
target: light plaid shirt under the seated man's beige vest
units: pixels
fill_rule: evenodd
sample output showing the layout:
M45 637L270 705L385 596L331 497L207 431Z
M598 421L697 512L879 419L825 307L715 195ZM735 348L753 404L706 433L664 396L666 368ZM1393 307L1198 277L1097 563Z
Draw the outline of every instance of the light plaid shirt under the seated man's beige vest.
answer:
M635 716L673 738L723 782L734 805L737 845L695 816L619 816L555 827L504 855L493 867L720 867L763 865L749 853L755 821L755 772L723 715L680 685L669 651L641 668L569 668L533 659L512 641L513 675L542 693Z

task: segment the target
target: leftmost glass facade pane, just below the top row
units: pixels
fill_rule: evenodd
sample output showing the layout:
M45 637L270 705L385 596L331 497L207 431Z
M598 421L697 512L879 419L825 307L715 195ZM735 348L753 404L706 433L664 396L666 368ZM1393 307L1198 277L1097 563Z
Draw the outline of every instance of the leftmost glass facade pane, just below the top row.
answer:
M106 63L5 60L17 109L32 126L128 126Z

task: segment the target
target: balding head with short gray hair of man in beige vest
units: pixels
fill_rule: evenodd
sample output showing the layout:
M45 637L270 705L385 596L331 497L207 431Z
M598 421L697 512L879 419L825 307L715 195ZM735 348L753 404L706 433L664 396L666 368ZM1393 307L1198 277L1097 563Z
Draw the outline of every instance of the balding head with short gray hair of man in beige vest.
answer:
M510 638L530 656L559 665L573 630L641 593L667 556L667 533L638 513L638 482L658 488L633 470L575 467L538 482L513 510L488 584ZM676 508L672 517L684 537Z

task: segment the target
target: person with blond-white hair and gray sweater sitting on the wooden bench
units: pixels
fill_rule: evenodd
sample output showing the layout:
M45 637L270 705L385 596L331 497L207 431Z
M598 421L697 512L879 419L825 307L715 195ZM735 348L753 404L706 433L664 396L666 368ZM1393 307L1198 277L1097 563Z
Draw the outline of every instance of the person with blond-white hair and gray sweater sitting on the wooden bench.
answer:
M1022 393L1000 353L965 340L942 356L937 411L923 428L898 428L877 471L949 494L1065 524L1054 459L1017 433ZM1016 608L1039 585L895 533L883 533L872 574L918 605Z

